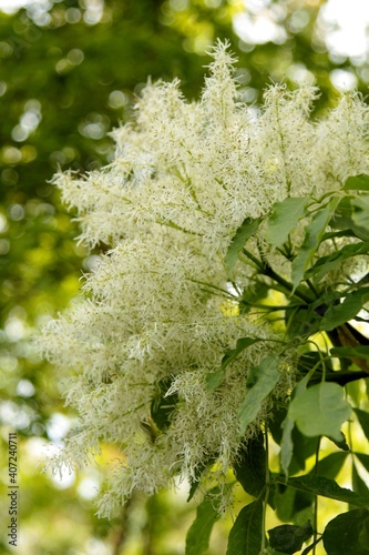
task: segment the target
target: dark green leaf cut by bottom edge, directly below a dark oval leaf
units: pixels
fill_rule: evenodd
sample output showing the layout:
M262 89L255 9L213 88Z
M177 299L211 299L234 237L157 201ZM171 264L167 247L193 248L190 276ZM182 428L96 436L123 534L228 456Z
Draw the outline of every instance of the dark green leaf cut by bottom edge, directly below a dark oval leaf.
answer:
M262 548L263 502L244 507L233 525L226 555L256 555Z

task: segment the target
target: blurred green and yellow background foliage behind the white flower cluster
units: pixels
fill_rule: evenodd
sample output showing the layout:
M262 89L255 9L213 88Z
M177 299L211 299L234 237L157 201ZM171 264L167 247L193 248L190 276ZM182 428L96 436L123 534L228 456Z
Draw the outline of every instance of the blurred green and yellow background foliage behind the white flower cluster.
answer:
M106 133L130 118L148 75L178 77L185 95L196 98L206 50L217 37L228 39L239 59L240 91L250 104L271 81L294 88L306 78L321 89L322 110L335 102L335 69L353 74L366 91L366 60L352 65L332 56L319 36L324 2L264 2L275 34L253 42L243 33L243 18L257 17L248 9L255 3L44 0L0 12L0 418L6 462L0 495L6 498L8 433L17 431L20 554L183 553L193 507L182 504L173 511L172 497L161 494L148 502L134 498L112 522L98 521L91 500L103 481L104 458L89 471L92 477L86 471L62 485L40 474L43 445L60 441L74 416L31 336L78 296L81 268L89 272L96 260L75 242L78 228L50 179L59 168L85 172L112 159ZM107 450L105 458L113 456ZM2 522L7 511L2 504ZM7 553L7 538L1 542ZM224 553L222 542L212 553Z

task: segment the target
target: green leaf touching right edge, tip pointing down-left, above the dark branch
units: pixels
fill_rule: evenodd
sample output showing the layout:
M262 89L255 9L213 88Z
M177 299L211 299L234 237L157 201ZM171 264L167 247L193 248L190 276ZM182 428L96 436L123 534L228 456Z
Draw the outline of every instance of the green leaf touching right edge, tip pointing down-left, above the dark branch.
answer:
M368 301L369 287L362 287L352 293L348 293L342 303L329 306L322 316L320 330L330 332L338 325L352 320Z

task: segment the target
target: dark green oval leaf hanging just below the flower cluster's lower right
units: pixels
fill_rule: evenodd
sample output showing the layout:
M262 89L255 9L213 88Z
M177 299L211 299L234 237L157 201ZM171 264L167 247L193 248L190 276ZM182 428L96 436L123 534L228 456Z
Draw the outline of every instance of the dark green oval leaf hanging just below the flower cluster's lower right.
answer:
M249 440L247 445L243 445L234 464L236 478L245 492L254 497L258 497L265 487L265 460L264 434L260 432Z

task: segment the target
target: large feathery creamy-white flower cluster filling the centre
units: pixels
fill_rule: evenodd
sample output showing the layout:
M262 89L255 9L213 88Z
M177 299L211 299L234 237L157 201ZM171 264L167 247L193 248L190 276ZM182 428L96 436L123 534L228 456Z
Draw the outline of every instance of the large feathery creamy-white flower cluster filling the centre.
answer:
M274 202L368 171L368 111L358 97L311 122L317 91L275 85L256 117L240 100L233 62L218 43L198 102L188 103L177 81L148 84L134 121L113 133L111 165L85 179L55 176L79 211L81 240L111 249L85 280L85 301L40 340L44 355L70 370L66 400L81 418L55 464L84 464L101 441L122 451L104 511L135 488L195 478L209 461L227 472L239 448L247 372L274 345L255 343L219 387L206 387L237 339L273 337L265 322L236 310L250 272L238 262L230 286L229 242L245 218L267 214ZM284 391L293 371L283 363L280 373ZM153 418L157 398L173 402L162 427Z

